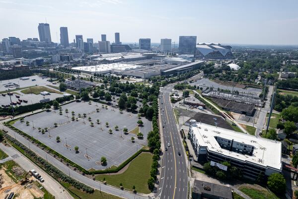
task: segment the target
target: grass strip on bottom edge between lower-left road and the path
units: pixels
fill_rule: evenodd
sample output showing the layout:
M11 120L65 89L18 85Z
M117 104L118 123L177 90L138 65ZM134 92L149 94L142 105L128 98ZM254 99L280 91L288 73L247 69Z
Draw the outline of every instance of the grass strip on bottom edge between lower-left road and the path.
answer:
M95 190L92 194L88 194L86 192L74 188L70 184L63 183L63 185L71 191L70 194L74 197L74 199L123 199L111 194L107 194L105 192L100 192L99 190ZM77 196L79 196L79 198Z

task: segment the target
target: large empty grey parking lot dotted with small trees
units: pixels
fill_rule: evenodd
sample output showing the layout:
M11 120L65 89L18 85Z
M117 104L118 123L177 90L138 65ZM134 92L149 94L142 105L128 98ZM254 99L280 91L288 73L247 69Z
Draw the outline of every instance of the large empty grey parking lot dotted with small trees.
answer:
M66 113L66 109L68 109L68 113ZM86 117L83 117L84 113ZM91 117L91 121L88 120L88 117ZM97 123L97 119L101 124ZM151 122L146 118L142 117L144 126L140 127L144 139L138 139L132 133L123 133L124 128L127 128L128 132L135 129L138 120L137 114L126 111L120 113L119 109L109 106L106 108L105 105L102 106L101 103L92 101L91 104L72 102L63 105L62 115L60 110L34 114L25 117L24 122L16 121L13 126L38 139L84 169L101 170L113 165L119 166L137 150L147 145L146 138L151 130ZM30 122L29 125L26 125L26 121ZM93 127L91 122L93 122ZM106 126L106 122L109 123L108 126ZM57 127L54 123L57 123ZM118 131L115 130L116 125L119 127ZM39 132L39 127L48 128L48 132L44 132L44 134ZM109 129L112 129L112 134L109 133ZM60 142L56 141L57 136L60 137ZM132 136L135 137L135 143L131 141ZM79 147L78 153L74 150L75 146ZM106 166L100 164L102 156L107 159Z

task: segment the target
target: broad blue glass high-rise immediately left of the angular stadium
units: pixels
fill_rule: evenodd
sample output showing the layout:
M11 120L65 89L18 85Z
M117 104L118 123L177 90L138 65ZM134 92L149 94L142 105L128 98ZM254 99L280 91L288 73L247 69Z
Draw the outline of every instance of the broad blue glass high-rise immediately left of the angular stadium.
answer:
M197 36L179 36L179 54L195 54Z

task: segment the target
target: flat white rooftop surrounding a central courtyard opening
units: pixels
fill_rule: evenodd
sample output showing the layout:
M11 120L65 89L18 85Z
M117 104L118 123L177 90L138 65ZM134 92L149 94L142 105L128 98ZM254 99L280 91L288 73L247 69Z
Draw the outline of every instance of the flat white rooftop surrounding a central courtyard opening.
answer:
M192 123L193 133L202 147L207 147L209 151L219 153L238 161L250 162L263 167L270 167L273 170L282 170L282 143L275 140L265 139L245 133L236 132L205 123ZM220 146L215 137L233 140L243 145L253 146L251 155L241 154L226 150Z

